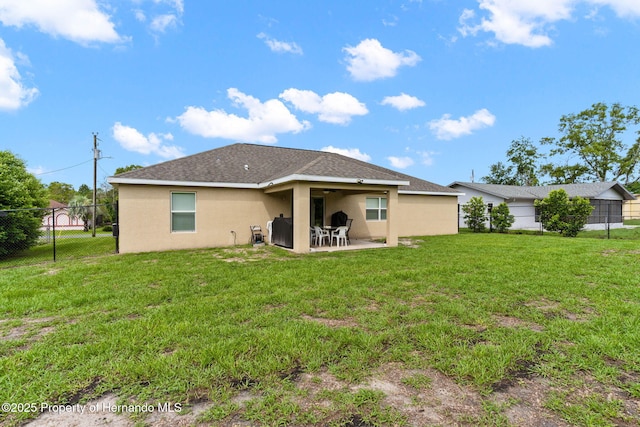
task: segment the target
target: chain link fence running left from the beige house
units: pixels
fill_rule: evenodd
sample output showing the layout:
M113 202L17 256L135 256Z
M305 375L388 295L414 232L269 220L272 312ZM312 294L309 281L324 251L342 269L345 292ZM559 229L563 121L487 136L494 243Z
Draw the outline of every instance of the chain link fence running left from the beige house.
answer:
M117 204L0 210L0 269L116 253L115 222Z

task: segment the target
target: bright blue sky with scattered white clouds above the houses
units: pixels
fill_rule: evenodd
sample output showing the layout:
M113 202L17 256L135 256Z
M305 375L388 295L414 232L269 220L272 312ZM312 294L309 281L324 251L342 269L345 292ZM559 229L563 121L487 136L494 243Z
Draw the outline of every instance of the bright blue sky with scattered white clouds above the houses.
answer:
M638 0L0 0L0 149L102 183L234 142L447 185L640 99Z

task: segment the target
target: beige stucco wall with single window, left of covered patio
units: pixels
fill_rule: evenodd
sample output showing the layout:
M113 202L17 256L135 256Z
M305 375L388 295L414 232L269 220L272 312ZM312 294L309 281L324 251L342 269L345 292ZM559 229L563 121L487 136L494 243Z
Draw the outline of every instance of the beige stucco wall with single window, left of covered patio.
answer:
M171 232L171 193L196 193L196 231ZM119 186L120 252L246 244L250 225L291 216L290 193L202 187Z

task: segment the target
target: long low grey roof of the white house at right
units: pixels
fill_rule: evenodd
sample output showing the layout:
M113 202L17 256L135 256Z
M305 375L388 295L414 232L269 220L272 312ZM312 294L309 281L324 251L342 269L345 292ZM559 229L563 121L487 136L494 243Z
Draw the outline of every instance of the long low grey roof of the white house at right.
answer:
M544 199L553 190L564 189L569 197L584 197L587 199L598 198L602 193L614 189L624 198L633 200L633 194L629 193L617 182L590 182L581 184L559 184L541 186L520 186L520 185L500 185L500 184L479 184L475 182L454 182L449 187L467 187L470 189L492 194L503 199Z

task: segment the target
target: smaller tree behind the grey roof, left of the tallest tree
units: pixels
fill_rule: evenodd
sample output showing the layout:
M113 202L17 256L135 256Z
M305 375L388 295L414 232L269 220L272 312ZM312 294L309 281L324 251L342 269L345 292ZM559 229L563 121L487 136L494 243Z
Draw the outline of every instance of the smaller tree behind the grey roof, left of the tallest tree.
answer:
M540 157L538 148L530 138L522 136L520 139L514 139L507 150L507 161L510 165L502 162L491 165L489 175L482 180L487 184L538 185L541 172L538 165Z

